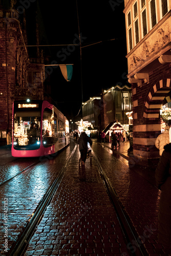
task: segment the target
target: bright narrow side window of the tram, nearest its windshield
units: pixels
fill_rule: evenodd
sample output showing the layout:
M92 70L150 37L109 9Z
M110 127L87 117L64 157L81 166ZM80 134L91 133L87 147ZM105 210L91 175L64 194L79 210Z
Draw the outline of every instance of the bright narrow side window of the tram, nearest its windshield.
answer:
M42 141L45 147L54 144L54 116L48 108L44 110L42 118Z

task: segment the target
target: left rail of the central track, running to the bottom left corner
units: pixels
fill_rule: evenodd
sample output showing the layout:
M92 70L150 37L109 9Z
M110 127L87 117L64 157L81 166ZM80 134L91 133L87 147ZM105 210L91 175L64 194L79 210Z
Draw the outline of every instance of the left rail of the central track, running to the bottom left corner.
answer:
M26 246L28 245L28 243L32 237L32 234L34 233L37 224L41 220L47 206L50 204L50 202L53 198L53 195L59 186L59 183L65 173L65 170L66 170L75 150L76 150L76 147L77 147L77 144L75 143L75 147L74 147L72 153L70 154L70 156L68 157L65 166L63 166L61 168L60 172L58 173L57 177L53 181L52 185L49 187L49 189L46 192L46 194L44 195L44 197L40 200L39 204L37 205L37 207L32 215L32 218L29 219L24 231L22 232L22 234L20 234L17 241L15 241L15 245L11 247L11 250L8 252L7 255L10 255L10 256L23 255L24 250L25 250Z

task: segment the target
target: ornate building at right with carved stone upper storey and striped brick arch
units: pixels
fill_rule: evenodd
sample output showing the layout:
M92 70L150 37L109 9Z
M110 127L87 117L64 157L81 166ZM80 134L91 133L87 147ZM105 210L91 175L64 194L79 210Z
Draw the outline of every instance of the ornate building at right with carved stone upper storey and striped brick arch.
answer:
M170 101L171 1L125 0L129 82L133 100L133 154L153 162L161 132L160 108Z

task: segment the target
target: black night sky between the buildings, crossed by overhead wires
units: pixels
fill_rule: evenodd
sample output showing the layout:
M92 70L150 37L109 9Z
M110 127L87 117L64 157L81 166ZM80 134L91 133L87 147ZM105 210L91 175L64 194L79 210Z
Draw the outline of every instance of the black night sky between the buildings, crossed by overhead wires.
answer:
M39 30L40 36L44 35L44 44L79 44L78 17L81 46L102 41L82 48L82 61L80 46L44 48L44 51L50 51L50 62L74 64L70 82L63 78L59 68L53 68L51 74L51 96L68 118L78 114L82 95L83 101L87 101L90 97L99 95L102 89L109 89L116 84L129 84L126 78L124 2L116 6L112 3L114 1L77 0L76 5L76 0L39 1L43 20L39 22ZM27 12L31 13L31 7Z

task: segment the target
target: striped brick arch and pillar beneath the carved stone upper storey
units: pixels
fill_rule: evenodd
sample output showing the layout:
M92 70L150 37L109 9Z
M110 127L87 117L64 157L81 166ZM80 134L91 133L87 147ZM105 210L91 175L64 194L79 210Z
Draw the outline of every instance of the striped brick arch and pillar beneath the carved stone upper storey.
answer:
M161 133L161 106L171 101L170 80L170 77L160 77L151 85L149 83L144 85L144 88L143 86L135 87L136 93L133 95L135 99L133 101L133 154L137 162L144 161L147 164L152 164L159 159L159 150L155 146L155 141Z

